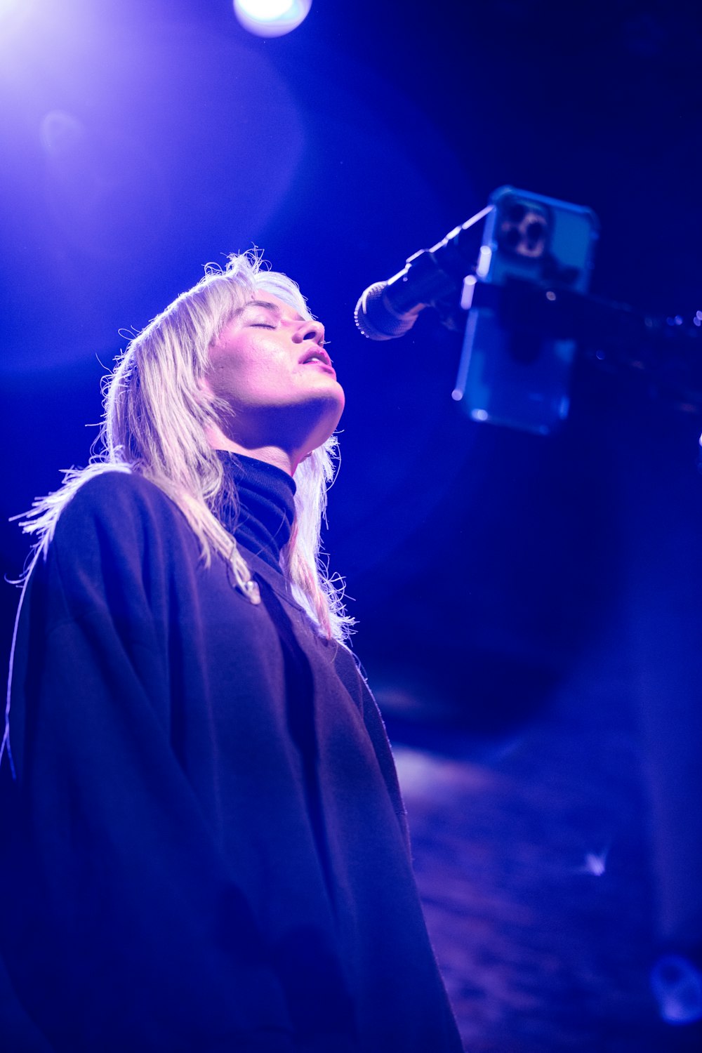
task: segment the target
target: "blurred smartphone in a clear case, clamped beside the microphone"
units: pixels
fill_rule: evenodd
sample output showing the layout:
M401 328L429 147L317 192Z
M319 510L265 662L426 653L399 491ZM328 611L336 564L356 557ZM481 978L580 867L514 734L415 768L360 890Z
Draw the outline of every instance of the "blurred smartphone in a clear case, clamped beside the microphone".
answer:
M546 290L586 293L599 222L591 210L501 186L483 229L454 398L474 420L542 435L565 420L576 341L507 327L496 306L470 306L470 283L509 278Z

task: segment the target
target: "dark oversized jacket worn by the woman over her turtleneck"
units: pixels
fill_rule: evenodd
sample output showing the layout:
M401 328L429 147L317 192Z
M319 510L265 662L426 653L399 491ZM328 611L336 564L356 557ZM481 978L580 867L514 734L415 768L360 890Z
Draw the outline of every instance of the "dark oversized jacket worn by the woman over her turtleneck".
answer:
M258 607L127 473L62 512L0 770L13 995L57 1053L457 1051L375 701L246 558Z

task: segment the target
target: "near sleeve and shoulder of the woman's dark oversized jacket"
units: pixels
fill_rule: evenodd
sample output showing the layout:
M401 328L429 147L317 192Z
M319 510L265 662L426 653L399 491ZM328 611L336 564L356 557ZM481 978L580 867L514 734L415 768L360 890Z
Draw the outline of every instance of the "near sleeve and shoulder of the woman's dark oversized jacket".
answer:
M25 590L15 777L0 772L0 939L56 1050L297 1048L265 941L172 747L172 568L195 574L196 550L160 491L109 473L63 511Z

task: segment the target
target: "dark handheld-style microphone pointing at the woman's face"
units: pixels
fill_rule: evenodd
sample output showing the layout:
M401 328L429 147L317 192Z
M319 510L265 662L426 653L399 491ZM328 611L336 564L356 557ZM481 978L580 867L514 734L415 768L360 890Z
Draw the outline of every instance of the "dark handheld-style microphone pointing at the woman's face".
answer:
M387 281L369 285L356 304L356 324L369 340L393 340L404 336L424 307L461 289L474 264L466 259L464 233L492 212L487 205L454 227L432 249L410 256L402 271Z

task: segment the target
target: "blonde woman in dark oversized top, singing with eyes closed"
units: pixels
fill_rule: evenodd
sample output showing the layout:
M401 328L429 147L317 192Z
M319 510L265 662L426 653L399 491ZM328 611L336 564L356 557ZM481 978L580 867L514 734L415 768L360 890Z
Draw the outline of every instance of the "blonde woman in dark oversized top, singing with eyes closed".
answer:
M344 401L323 338L256 257L209 271L24 523L0 931L60 1053L460 1049L319 562Z

